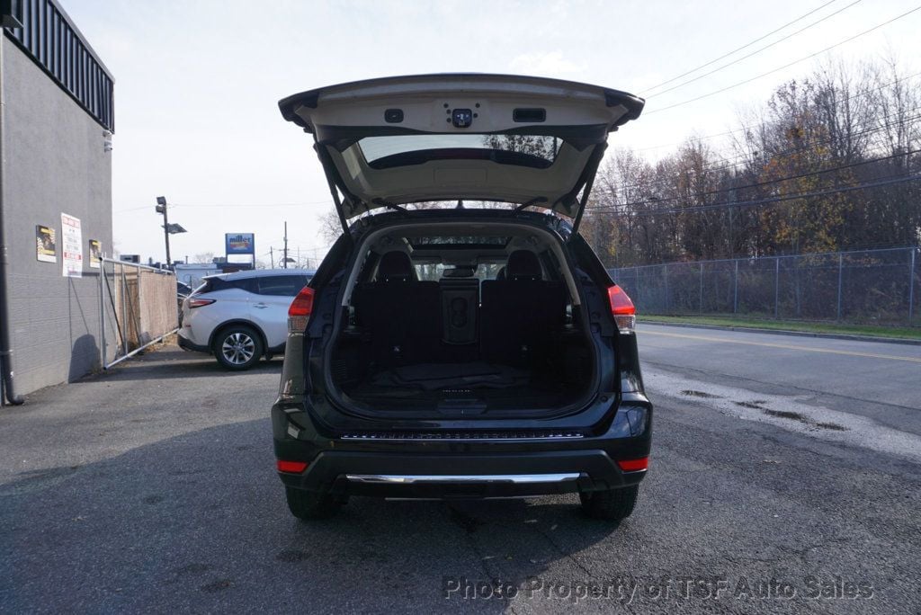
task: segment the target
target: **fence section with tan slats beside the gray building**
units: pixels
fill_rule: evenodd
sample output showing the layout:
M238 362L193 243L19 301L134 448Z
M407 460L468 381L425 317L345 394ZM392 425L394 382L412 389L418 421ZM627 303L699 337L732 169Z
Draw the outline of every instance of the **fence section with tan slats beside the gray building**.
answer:
M109 368L177 331L176 274L102 259L99 275L101 363Z

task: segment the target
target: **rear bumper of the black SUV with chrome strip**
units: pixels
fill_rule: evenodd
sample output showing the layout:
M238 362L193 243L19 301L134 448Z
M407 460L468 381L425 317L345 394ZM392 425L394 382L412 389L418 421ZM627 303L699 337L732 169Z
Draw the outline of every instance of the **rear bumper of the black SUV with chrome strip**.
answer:
M651 444L648 402L622 406L599 435L479 440L322 435L309 412L298 410L273 408L275 457L307 469L278 475L287 487L339 495L445 499L617 489L646 475L623 471L617 461L647 457Z

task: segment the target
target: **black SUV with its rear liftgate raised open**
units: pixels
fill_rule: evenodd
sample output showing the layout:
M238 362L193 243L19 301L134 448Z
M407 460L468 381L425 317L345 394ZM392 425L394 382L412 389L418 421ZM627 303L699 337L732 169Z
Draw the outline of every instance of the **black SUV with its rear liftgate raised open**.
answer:
M288 312L272 423L291 512L578 493L589 516L629 516L652 426L635 310L577 228L643 100L419 75L279 104L344 228Z

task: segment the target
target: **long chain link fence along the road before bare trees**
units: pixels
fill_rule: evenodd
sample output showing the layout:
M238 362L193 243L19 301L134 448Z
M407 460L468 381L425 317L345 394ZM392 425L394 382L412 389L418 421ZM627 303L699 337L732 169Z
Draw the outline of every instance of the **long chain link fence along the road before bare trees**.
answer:
M921 326L921 249L673 262L609 270L637 311Z

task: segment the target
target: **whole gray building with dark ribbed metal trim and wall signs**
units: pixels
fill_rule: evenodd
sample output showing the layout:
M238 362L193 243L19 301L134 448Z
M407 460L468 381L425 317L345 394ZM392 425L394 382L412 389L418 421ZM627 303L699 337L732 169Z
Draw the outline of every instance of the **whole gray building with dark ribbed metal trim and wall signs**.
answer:
M0 364L17 402L99 367L114 115L111 73L56 1L0 13Z

